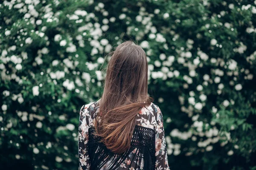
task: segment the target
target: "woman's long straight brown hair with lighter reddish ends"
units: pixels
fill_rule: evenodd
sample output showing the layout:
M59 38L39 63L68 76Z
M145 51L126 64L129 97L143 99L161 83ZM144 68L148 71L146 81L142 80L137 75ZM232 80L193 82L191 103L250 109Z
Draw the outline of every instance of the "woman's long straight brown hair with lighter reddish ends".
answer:
M129 149L135 119L153 102L148 97L148 62L145 51L133 41L121 43L108 62L99 103L95 135L113 153Z

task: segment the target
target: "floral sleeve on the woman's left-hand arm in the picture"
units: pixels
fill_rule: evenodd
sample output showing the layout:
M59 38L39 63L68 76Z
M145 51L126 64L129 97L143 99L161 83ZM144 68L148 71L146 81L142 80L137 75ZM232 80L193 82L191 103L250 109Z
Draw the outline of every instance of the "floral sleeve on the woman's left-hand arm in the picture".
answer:
M79 170L90 169L90 158L88 154L88 129L89 129L89 105L83 105L79 112L79 140L78 140L78 155L79 155Z

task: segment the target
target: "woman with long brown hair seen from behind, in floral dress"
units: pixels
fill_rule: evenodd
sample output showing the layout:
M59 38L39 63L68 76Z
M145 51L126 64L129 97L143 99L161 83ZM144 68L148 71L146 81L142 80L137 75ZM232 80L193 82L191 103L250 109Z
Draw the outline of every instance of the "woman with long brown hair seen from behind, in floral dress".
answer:
M145 51L123 42L101 99L81 107L79 170L169 170L163 115L152 102Z

